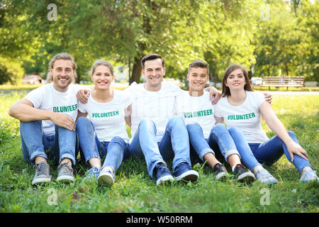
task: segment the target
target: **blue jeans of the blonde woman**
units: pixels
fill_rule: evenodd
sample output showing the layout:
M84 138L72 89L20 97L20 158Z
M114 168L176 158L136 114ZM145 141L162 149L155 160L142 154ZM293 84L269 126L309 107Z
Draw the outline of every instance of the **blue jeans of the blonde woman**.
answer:
M77 119L77 133L79 135L79 144L87 165L91 158L105 157L103 167L111 166L114 170L118 170L123 160L130 157L130 149L128 143L115 136L111 141L101 142L97 138L94 125L88 118L79 117Z

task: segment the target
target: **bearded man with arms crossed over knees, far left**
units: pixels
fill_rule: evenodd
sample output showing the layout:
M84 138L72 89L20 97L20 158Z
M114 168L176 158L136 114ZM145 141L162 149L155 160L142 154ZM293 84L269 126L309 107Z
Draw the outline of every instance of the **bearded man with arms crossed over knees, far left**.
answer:
M32 184L50 182L47 159L60 163L59 182L74 182L77 139L78 85L73 84L77 65L67 52L50 61L52 83L34 89L9 109L9 115L21 121L21 149L26 162L35 165Z

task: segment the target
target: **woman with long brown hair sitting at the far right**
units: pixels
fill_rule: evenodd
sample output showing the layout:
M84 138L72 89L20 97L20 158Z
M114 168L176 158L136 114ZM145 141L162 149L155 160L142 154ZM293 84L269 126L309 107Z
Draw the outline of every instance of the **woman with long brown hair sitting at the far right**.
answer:
M268 138L262 129L261 118L276 135ZM253 92L247 70L242 65L230 65L223 76L222 98L216 104L216 123L227 124L235 140L244 165L257 175L276 179L265 172L262 164L272 165L285 154L301 172L301 182L318 181L306 150L301 148L295 133L286 128L276 117L272 106L264 101L259 92ZM268 173L269 174L269 173ZM270 180L273 178L272 180Z

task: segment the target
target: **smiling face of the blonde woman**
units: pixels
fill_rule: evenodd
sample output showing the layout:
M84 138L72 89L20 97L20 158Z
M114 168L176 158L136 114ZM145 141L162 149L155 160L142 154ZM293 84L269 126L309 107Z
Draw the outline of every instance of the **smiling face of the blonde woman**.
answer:
M95 68L91 79L95 84L96 90L106 90L111 87L111 82L114 80L111 69L105 65L99 65Z

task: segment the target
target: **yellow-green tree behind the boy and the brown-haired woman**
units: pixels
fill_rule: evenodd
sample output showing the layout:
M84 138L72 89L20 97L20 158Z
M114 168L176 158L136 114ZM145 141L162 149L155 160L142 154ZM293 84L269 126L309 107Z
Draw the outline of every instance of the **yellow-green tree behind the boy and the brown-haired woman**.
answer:
M253 55L252 26L256 1L205 1L196 19L196 57L210 67L211 79L223 77L225 68L239 63L250 68Z

